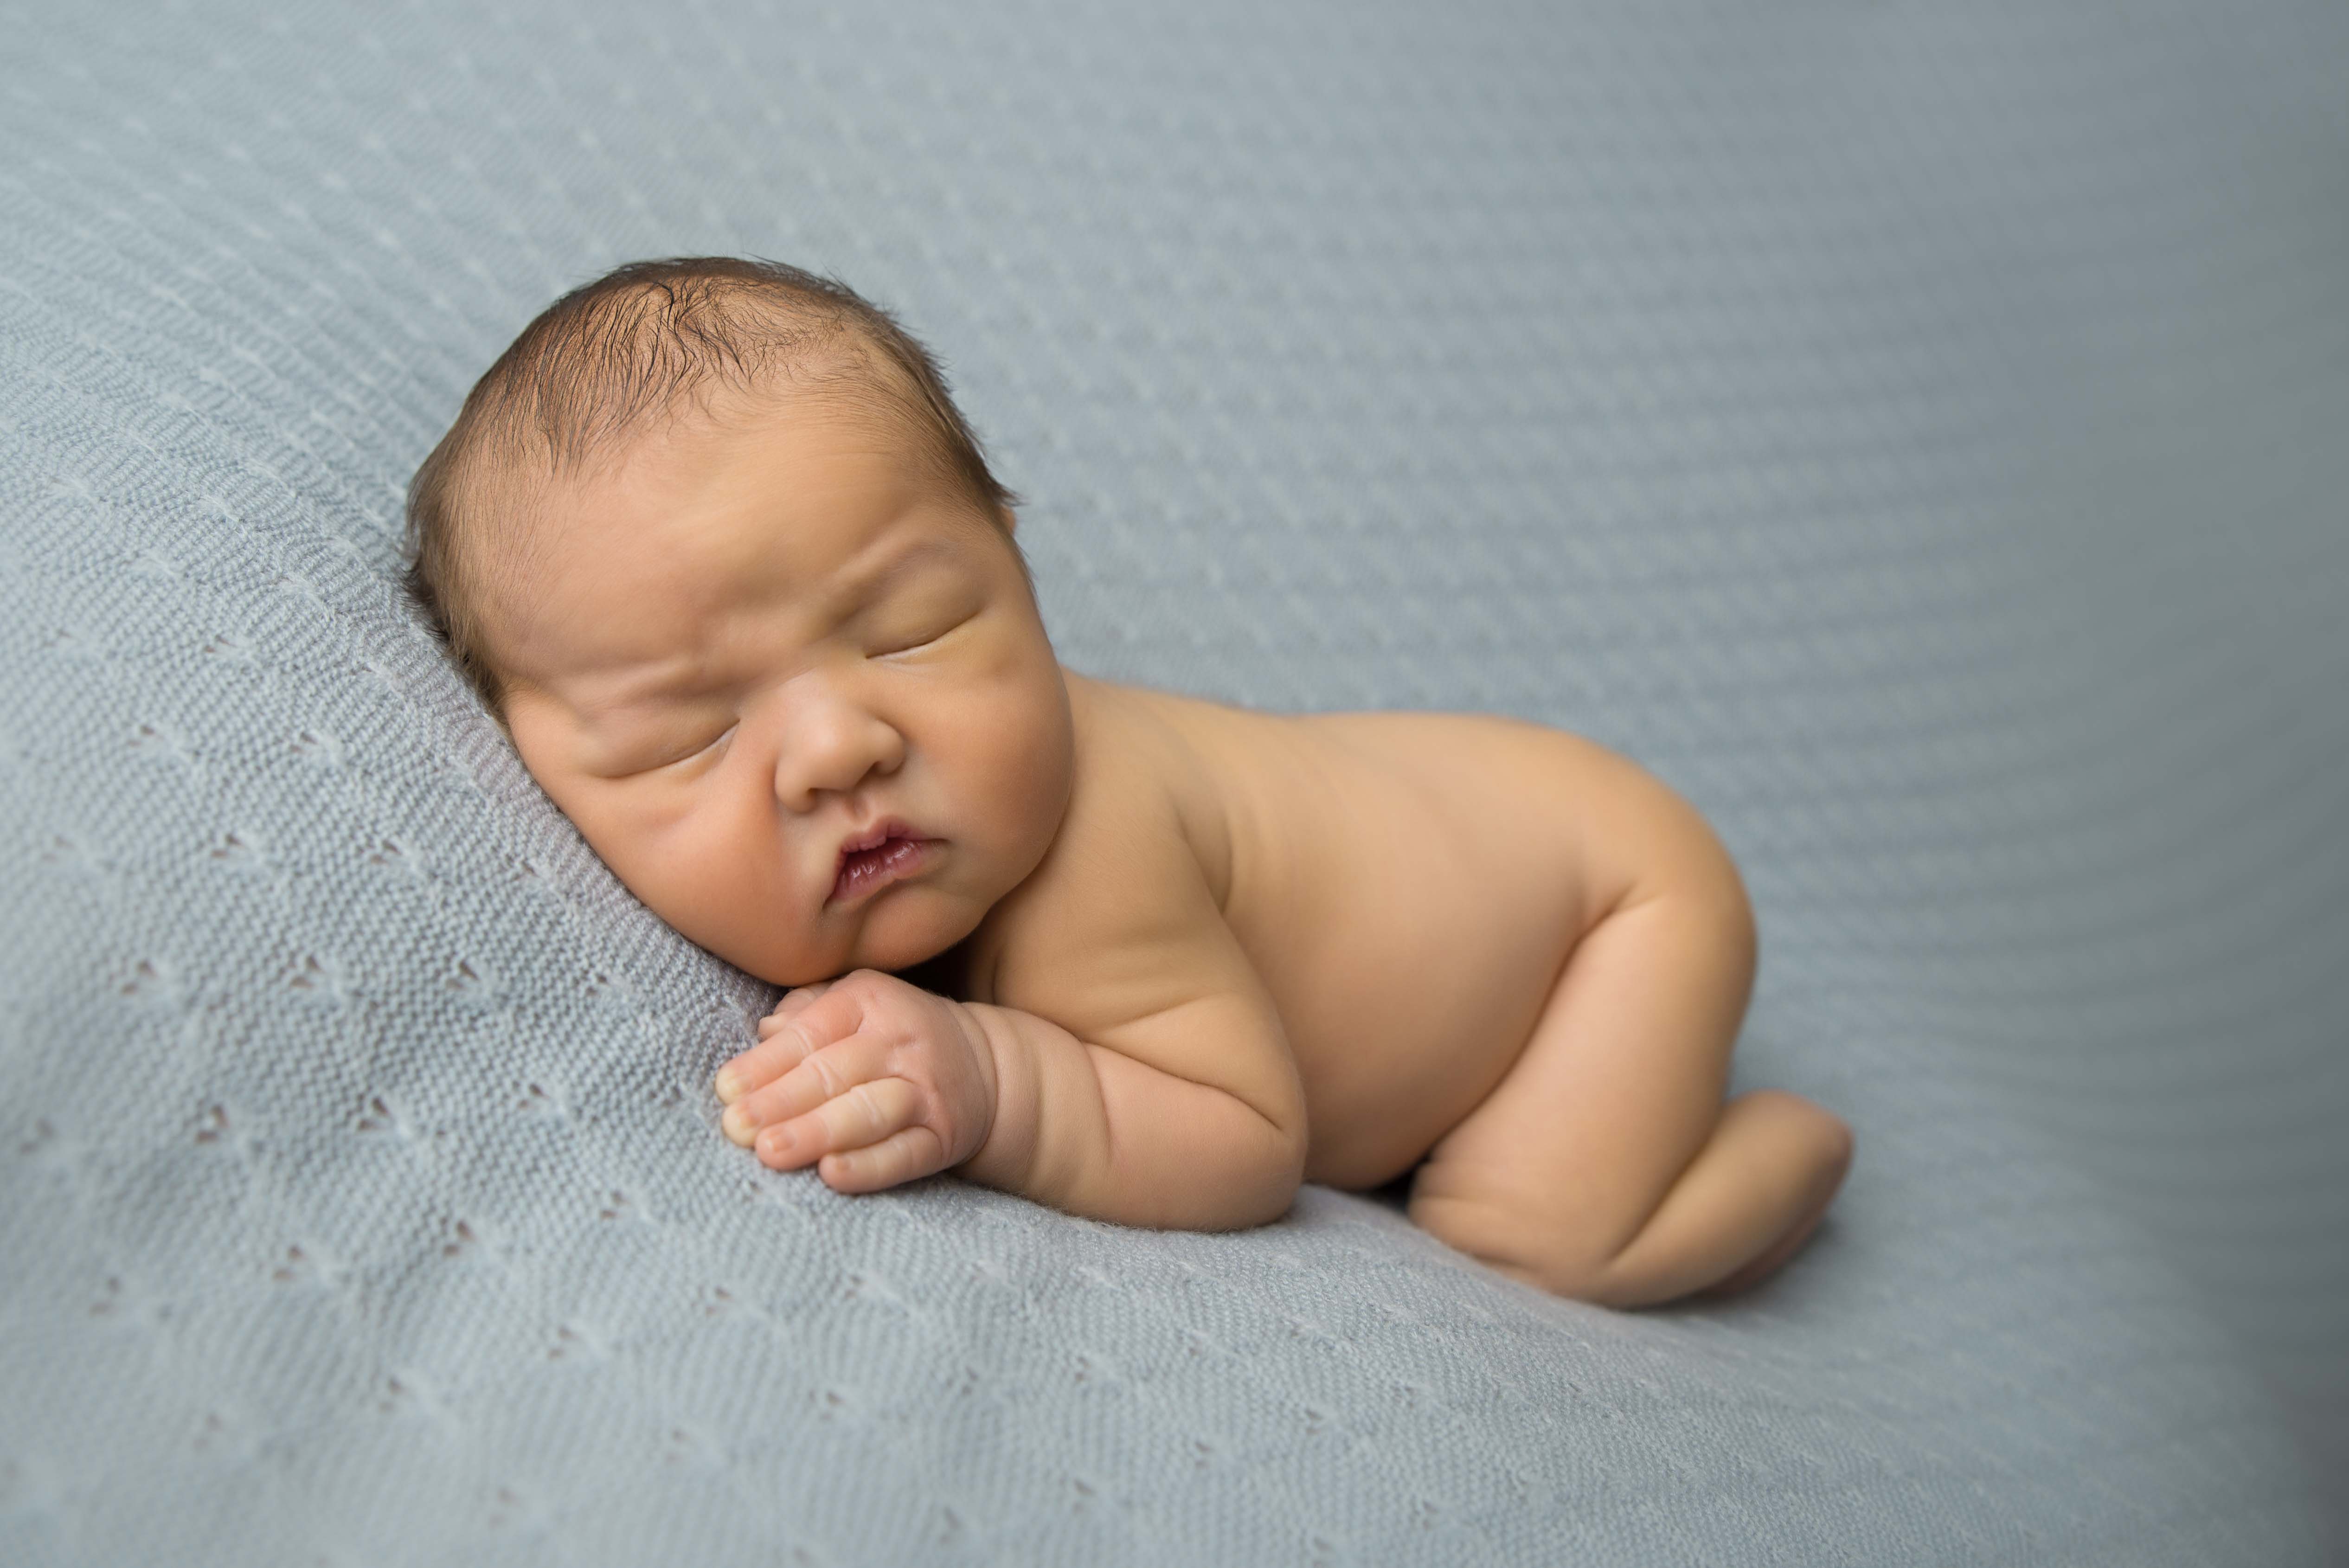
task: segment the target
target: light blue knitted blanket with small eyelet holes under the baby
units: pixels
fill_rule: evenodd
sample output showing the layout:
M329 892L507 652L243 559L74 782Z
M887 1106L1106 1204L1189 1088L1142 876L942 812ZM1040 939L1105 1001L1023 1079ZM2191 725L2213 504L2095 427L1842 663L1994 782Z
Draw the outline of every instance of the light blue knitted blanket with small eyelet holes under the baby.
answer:
M12 9L0 1561L2323 1561L2342 80L2281 2ZM695 252L944 355L1071 665L1691 795L1818 1241L1628 1316L731 1147L770 997L395 590L491 355Z

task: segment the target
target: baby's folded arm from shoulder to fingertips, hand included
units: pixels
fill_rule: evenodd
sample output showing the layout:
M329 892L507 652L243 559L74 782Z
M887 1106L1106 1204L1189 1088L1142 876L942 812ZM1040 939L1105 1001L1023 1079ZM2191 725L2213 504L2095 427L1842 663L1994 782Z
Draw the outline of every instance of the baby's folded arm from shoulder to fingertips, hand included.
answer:
M799 987L719 1072L726 1133L841 1192L961 1168L1120 1225L1278 1218L1306 1114L1271 994L1179 837L1116 853L998 964L1041 976L1010 992L1034 1011L879 971Z

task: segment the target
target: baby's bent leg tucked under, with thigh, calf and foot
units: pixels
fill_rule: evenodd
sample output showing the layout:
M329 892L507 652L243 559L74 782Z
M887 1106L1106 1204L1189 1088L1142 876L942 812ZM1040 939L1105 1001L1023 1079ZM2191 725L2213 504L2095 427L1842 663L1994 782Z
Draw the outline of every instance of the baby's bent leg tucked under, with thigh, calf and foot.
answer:
M1722 1107L1750 985L1743 898L1661 893L1609 914L1508 1077L1428 1154L1412 1220L1616 1307L1773 1267L1832 1199L1849 1131L1783 1093Z

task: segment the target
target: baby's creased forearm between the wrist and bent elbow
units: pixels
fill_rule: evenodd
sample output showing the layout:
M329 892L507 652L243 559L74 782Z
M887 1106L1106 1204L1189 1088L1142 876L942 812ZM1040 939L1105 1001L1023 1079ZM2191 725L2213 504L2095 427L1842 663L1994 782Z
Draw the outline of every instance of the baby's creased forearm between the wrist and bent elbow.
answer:
M968 1006L996 1117L963 1175L1118 1225L1238 1229L1283 1215L1304 1138L1247 1100L1095 1046L1036 1013Z

